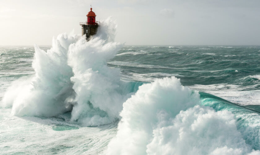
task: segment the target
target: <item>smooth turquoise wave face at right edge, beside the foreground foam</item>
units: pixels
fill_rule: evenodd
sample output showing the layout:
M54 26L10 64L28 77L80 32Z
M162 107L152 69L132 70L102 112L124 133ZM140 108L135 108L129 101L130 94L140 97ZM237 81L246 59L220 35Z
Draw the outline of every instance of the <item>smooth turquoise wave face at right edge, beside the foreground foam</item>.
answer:
M243 135L246 144L253 149L260 149L260 105L240 106L217 96L200 92L201 105L209 106L215 111L230 111L236 119L237 130Z

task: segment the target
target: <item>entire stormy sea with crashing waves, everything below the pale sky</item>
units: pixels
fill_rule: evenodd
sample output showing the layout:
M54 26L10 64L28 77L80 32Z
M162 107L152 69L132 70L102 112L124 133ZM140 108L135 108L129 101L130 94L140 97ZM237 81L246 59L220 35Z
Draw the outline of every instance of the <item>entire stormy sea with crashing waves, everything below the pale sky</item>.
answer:
M259 46L107 34L0 47L0 154L260 154Z

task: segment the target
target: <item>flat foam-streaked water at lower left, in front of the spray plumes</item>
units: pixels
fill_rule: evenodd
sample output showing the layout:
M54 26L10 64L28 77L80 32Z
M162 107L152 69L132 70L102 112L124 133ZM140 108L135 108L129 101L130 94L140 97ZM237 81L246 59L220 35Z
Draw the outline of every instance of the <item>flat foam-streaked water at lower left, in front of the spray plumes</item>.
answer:
M2 154L103 154L116 124L82 127L69 117L16 117L0 108ZM63 119L66 121L63 121Z

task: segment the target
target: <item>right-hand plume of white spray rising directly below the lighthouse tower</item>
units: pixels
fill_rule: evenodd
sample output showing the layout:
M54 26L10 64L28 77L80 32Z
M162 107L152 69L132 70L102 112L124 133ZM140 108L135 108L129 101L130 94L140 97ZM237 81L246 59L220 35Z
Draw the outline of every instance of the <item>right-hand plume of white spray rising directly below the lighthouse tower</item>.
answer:
M72 121L88 126L114 122L119 119L123 102L131 95L121 89L124 83L120 82L120 69L111 69L106 64L122 47L111 40L110 35L98 33L89 42L79 41L69 48L68 64L74 73L71 81L77 102L72 110Z

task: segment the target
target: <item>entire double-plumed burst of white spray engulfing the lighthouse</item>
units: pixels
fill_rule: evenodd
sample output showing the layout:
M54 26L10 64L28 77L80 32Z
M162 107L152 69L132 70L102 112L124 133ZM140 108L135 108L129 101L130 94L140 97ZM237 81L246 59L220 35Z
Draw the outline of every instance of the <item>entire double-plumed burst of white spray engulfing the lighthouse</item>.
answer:
M122 104L132 92L127 85L136 84L121 82L120 70L106 64L123 46L113 42L115 29L109 18L89 42L85 36L63 33L53 38L47 52L35 45L35 75L10 87L3 102L19 116L50 117L72 110L71 120L88 126L119 119Z

